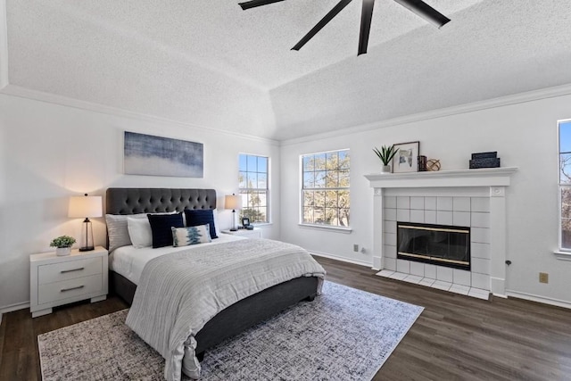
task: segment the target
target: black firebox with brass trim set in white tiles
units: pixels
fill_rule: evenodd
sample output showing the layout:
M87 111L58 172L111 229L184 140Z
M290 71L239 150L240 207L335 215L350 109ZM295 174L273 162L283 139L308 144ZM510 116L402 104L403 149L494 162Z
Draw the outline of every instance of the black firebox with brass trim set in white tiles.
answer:
M470 270L470 228L397 221L397 259Z

